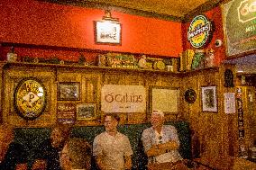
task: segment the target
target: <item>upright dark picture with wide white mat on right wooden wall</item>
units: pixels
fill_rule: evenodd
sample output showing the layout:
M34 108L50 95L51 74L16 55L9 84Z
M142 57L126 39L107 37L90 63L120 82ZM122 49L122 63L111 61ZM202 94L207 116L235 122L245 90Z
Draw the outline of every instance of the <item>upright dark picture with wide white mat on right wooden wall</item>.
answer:
M217 112L216 86L203 86L201 89L203 112Z

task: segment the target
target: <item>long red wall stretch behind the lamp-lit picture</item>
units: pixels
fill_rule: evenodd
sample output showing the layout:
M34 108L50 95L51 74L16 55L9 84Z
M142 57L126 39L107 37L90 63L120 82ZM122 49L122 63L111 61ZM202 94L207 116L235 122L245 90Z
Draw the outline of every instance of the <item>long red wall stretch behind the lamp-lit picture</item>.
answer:
M182 51L180 22L112 12L112 16L122 23L122 46L96 45L93 21L102 19L103 10L35 0L1 0L0 6L2 42L169 57L178 57ZM25 49L19 49L19 52L20 55L31 55Z

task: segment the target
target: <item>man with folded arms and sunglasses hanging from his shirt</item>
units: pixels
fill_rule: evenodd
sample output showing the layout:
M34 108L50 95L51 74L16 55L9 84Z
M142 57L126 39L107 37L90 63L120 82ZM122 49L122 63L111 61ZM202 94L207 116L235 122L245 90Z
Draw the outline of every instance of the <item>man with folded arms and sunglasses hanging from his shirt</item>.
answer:
M148 156L148 165L180 163L183 159L179 152L178 133L174 126L163 125L164 113L153 111L151 113L151 128L143 130L142 144Z

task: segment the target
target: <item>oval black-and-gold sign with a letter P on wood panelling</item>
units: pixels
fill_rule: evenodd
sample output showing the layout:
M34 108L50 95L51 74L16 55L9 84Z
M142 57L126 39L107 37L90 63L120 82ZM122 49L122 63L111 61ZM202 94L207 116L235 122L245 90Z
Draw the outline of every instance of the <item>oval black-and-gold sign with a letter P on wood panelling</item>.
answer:
M24 78L14 91L15 111L25 120L34 120L41 115L46 106L46 90L41 81Z

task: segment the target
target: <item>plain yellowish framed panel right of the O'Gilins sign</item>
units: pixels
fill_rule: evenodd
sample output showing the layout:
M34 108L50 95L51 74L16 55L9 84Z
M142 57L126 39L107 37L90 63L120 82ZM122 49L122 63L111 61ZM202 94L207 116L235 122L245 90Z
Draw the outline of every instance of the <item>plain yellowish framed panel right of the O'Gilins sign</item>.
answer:
M150 87L150 112L178 113L179 89L161 86Z

